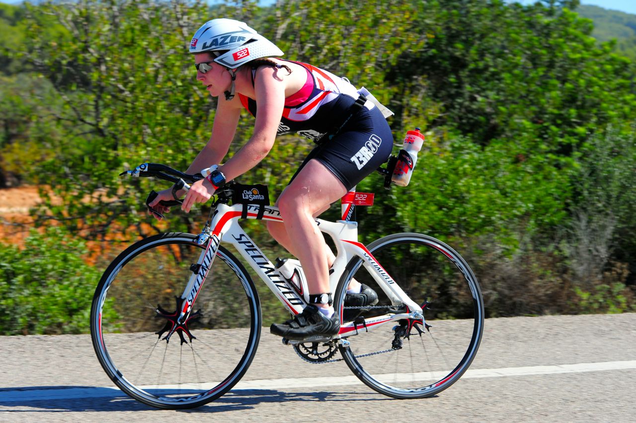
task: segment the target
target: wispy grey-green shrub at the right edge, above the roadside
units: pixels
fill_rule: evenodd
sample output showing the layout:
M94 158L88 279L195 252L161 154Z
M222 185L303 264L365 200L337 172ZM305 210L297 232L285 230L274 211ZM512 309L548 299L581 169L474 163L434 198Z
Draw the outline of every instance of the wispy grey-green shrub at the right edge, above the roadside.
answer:
M636 270L629 257L636 248L636 137L609 128L586 143L576 164L567 253L576 280L587 288L611 258Z

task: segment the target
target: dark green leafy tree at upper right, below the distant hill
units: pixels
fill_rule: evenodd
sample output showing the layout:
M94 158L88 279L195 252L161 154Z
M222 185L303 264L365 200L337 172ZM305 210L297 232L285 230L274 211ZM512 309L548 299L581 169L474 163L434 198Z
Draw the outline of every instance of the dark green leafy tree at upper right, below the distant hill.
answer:
M422 30L432 37L399 66L427 77L443 103L434 124L450 123L481 145L502 138L567 156L609 121L633 118L633 68L597 46L589 20L539 3L513 6L427 3L434 26Z

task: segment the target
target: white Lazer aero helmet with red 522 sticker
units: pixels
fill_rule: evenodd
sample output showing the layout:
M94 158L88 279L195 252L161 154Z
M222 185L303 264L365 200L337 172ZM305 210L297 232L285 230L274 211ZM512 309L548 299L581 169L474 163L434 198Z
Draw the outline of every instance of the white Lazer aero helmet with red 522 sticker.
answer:
M229 69L261 57L282 56L285 53L245 22L233 19L212 19L200 27L190 41L190 53L209 51L214 62Z

